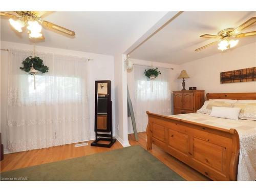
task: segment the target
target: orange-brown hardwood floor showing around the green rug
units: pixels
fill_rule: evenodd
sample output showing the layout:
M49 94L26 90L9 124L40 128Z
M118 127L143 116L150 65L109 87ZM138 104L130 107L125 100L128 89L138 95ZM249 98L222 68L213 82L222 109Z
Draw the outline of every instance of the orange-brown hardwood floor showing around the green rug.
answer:
M129 135L129 142L131 145L141 145L146 148L146 133L142 132L138 134L139 141L135 141L134 134ZM42 148L40 150L31 150L26 152L18 152L12 154L6 154L4 160L1 161L1 172L7 172L18 168L24 168L44 163L50 163L65 159L71 159L81 157L85 155L92 155L100 152L107 152L122 148L122 145L116 141L111 148L95 147L91 146L91 142L88 141L87 146L74 147L74 144L67 144L62 146L54 146L49 148ZM159 147L153 144L153 148L150 152L161 162L163 162L174 172L178 173L181 177L188 181L208 181L204 175L197 172L195 169L190 168L186 164L170 156L162 151Z

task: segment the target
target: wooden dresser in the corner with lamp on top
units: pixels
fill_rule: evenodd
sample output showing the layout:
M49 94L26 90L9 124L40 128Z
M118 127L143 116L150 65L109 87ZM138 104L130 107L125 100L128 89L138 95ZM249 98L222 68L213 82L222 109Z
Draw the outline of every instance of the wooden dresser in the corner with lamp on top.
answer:
M174 91L174 115L195 113L204 104L204 90Z

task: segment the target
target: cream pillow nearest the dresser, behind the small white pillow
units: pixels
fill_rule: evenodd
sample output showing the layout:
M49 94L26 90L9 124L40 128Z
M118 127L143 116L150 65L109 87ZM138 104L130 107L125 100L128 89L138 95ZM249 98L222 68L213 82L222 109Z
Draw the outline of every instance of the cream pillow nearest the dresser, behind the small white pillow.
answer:
M230 103L230 102L208 100L204 102L204 105L202 106L201 109L197 110L197 113L210 114L212 106L231 108L232 105L233 103Z

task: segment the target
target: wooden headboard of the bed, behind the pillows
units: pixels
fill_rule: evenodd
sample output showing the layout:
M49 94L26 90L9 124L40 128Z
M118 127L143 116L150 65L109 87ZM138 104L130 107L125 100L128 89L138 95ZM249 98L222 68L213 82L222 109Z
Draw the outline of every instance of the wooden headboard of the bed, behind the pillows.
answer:
M207 93L206 100L209 99L237 99L237 100L256 100L255 93Z

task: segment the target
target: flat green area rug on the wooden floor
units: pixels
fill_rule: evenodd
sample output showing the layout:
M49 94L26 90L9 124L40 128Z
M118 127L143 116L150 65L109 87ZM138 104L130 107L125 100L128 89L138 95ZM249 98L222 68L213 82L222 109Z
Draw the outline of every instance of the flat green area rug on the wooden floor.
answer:
M139 145L3 172L1 180L184 181Z

